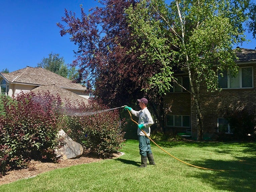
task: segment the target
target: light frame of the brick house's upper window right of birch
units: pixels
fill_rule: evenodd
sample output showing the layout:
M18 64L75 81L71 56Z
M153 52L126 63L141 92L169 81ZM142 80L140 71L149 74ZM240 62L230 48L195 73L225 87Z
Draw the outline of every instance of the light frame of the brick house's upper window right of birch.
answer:
M252 69L252 87L243 87L243 76L242 76L242 69L245 69L245 68L251 68ZM218 75L218 78L219 78L219 73L217 74ZM239 71L238 71L238 76L239 76L239 87L231 87L231 80L232 80L232 77L230 76L230 73L229 71L227 71L227 87L219 87L219 84L218 84L218 88L219 89L252 89L254 87L253 85L253 66L246 66L246 67L239 67ZM219 80L218 80L219 82Z

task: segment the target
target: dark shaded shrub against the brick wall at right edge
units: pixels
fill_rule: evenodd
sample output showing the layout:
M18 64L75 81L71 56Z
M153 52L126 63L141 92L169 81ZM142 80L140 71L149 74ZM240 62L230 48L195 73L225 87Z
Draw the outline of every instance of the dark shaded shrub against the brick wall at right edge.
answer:
M237 104L234 109L226 109L224 117L233 131L233 139L255 139L256 106Z

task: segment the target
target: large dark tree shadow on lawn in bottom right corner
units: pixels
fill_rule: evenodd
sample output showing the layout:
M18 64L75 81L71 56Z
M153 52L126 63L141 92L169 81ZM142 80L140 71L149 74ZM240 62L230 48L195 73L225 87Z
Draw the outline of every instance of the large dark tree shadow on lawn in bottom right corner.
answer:
M206 160L203 162L192 162L191 164L219 169L225 171L195 171L189 172L188 177L201 180L214 186L217 190L226 191L256 191L256 159L246 158L240 161L222 161L222 160Z

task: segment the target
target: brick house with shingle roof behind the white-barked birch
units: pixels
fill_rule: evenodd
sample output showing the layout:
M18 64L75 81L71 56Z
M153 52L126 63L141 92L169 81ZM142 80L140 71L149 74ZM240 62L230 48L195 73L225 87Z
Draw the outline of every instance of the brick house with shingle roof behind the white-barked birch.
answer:
M200 87L204 137L214 138L224 125L225 133L232 134L227 120L223 118L223 111L234 109L236 103L248 106L256 104L256 50L241 48L236 54L239 58L235 61L239 75L232 78L226 72L223 77L219 76L218 83L222 91L212 93L207 92L205 85ZM188 76L181 74L178 78L185 88L189 88ZM196 138L196 106L191 94L181 87L174 87L166 94L164 102L171 106L171 112L165 118L166 130Z

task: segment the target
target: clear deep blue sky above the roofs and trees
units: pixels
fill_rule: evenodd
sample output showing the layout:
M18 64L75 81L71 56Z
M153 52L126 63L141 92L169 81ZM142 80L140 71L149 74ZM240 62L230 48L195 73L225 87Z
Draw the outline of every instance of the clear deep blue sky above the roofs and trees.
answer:
M80 17L80 4L87 12L98 5L98 0L1 0L0 1L0 71L10 72L36 67L52 53L63 57L65 64L74 60L76 46L69 36L61 37L57 22L64 16L64 9ZM240 47L255 49L256 40Z

